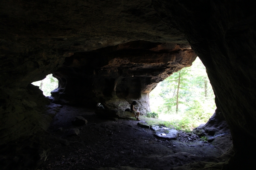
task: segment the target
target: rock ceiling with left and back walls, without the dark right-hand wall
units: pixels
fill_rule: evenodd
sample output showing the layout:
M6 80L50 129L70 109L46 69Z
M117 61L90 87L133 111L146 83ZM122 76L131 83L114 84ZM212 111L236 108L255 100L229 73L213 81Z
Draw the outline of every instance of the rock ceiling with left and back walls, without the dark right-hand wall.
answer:
M196 56L148 0L6 0L0 2L0 16L0 144L47 128L49 102L30 85L47 74L60 80L53 92L57 102L124 109L137 99L145 113L148 92L165 73L172 74L167 69L189 66Z

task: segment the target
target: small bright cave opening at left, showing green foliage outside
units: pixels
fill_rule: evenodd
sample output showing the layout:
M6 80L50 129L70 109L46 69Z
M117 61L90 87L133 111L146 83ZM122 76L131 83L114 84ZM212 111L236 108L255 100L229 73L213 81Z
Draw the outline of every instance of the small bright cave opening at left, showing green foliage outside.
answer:
M51 91L58 88L58 79L53 77L52 74L48 74L45 79L32 82L31 84L38 86L43 91L44 96L51 96Z

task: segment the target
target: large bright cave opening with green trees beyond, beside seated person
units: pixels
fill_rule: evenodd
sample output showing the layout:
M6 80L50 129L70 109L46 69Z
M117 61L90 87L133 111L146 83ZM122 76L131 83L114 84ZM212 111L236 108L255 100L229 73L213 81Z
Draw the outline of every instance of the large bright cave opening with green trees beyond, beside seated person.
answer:
M206 68L198 57L191 67L158 83L149 98L151 113L147 116L158 117L162 120L160 124L171 125L177 130L191 131L206 123L216 109Z

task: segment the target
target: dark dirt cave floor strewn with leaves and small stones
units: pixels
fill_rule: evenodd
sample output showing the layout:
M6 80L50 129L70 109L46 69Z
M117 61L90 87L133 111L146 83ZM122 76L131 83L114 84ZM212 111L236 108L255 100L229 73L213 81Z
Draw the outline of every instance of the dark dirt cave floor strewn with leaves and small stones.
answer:
M73 126L71 120L75 116L83 116L87 125ZM143 116L140 119L144 122ZM49 142L50 154L38 170L120 166L169 170L194 161L221 161L218 156L222 152L213 144L199 138L185 142L181 136L177 140L157 139L153 130L137 123L134 118L100 119L94 110L64 105L48 132L68 142ZM67 131L74 127L80 130L79 136L67 136Z

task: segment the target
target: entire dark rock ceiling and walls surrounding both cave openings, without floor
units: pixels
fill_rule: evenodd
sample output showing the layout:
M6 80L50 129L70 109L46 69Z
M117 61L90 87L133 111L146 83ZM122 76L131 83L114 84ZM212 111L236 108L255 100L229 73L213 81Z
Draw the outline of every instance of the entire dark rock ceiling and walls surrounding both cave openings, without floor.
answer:
M55 102L148 108L148 92L195 54L207 68L235 154L256 152L256 11L241 0L0 2L0 144L46 129L49 102L31 82L54 73ZM143 41L142 41L143 40ZM144 104L143 104L144 103Z

